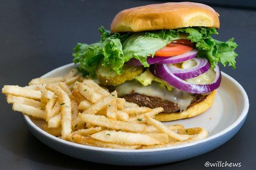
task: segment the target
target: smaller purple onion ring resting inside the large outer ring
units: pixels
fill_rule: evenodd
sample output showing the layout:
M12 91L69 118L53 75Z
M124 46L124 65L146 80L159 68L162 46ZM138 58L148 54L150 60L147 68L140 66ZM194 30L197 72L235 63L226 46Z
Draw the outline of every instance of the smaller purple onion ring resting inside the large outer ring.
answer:
M186 80L207 72L211 66L206 58L192 58L191 60L194 60L197 63L197 65L192 68L180 69L172 64L168 64L168 68L175 76L181 78L182 80Z

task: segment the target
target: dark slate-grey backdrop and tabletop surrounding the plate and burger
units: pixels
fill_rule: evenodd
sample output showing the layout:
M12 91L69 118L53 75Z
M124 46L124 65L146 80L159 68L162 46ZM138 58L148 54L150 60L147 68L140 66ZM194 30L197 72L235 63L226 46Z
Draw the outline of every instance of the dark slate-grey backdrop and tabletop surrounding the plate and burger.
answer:
M109 29L122 9L161 3L146 0L1 0L0 1L0 86L25 86L32 78L72 62L77 42L99 40L97 28ZM117 167L95 164L65 156L36 139L0 95L0 169L209 169L206 161L241 162L241 169L255 169L255 45L256 3L253 0L201 0L219 14L218 40L235 37L237 69L221 66L246 90L250 110L244 126L226 144L204 155L172 164L148 167ZM233 169L233 168L222 168Z

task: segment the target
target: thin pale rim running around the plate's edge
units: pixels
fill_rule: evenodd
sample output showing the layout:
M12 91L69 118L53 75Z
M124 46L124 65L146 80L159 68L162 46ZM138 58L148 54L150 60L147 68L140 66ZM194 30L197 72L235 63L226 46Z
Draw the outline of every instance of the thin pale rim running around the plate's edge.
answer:
M46 74L42 75L41 77L42 78L47 77L48 75L52 74L52 72L56 72L58 70L64 69L66 67L70 67L72 65L75 66L74 63L69 63L69 64L66 64L64 66L60 66L56 69L53 69L50 72L47 72ZM236 119L236 121L234 121L232 124L230 124L230 126L226 127L224 130L222 130L222 131L220 131L220 132L218 132L218 133L216 133L216 134L214 134L210 137L204 138L204 139L199 140L199 141L191 142L191 143L188 143L188 144L181 144L181 145L172 146L172 147L143 149L143 150L123 150L123 149L93 147L93 146L88 146L88 145L76 144L76 143L73 143L73 142L70 142L70 141L65 141L64 139L61 139L61 138L55 137L53 135L50 135L49 133L45 132L40 127L38 127L36 124L34 124L34 122L32 122L32 120L29 118L28 115L23 115L23 118L26 121L26 123L29 124L31 127L33 127L36 131L38 131L38 133L41 133L42 135L45 135L46 137L51 138L54 141L60 142L60 143L65 144L65 145L69 145L70 147L79 147L80 149L95 150L95 151L102 151L102 152L146 153L146 152L158 152L158 151L176 150L176 149L181 149L181 148L185 148L185 147L191 147L193 145L198 145L198 144L202 144L202 143L205 143L205 142L209 142L209 141L211 141L215 138L218 138L218 137L230 132L231 130L233 130L237 126L239 126L239 124L247 116L247 113L248 113L248 110L249 110L249 99L248 99L247 93L245 92L244 88L241 86L241 84L239 84L230 75L227 75L226 73L224 73L222 71L221 71L221 75L225 76L227 79L232 81L232 83L234 83L236 86L238 86L239 89L241 90L242 98L244 99L244 105L243 105L243 109L241 111L241 115L239 115L239 117Z

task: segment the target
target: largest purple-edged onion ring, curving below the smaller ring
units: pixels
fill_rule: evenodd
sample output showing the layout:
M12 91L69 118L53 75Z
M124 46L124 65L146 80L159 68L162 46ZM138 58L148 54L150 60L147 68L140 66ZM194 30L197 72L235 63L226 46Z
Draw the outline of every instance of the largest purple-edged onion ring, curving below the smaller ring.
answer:
M204 85L192 84L176 77L172 72L170 72L166 64L151 65L150 70L152 74L156 75L159 78L162 78L164 81L174 86L176 89L189 92L189 93L194 93L194 94L203 94L203 93L211 92L217 89L221 84L221 71L217 64L215 65L215 69L214 69L214 71L216 72L214 81L211 84L204 84Z

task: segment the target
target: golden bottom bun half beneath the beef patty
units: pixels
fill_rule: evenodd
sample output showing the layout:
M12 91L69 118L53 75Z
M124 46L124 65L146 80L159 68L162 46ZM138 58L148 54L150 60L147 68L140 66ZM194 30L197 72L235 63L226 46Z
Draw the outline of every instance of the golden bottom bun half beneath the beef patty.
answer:
M200 115L212 106L216 92L217 90L214 90L209 95L207 95L203 101L187 108L181 113L159 113L155 116L155 119L157 119L158 121L174 121L183 118L192 118Z

